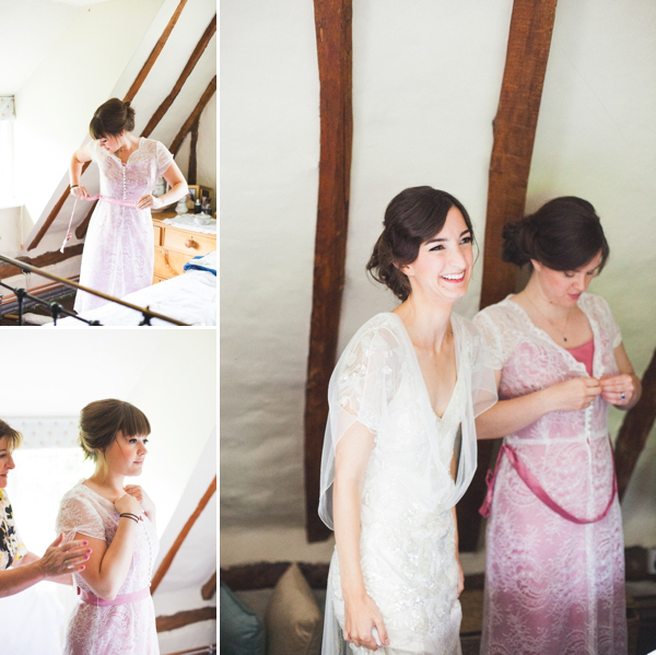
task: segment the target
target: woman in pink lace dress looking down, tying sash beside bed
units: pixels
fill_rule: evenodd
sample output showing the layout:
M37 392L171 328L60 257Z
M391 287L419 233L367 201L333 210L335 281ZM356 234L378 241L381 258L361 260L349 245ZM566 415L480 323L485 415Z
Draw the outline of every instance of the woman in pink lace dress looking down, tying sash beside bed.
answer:
M71 160L71 194L87 198L80 186L84 162L94 161L101 173L101 199L84 239L80 284L122 297L152 284L154 265L151 208L166 207L183 198L187 183L173 155L159 141L138 138L130 103L112 98L101 105L91 121L93 141L77 150ZM160 177L171 189L153 197ZM79 292L75 312L107 301Z

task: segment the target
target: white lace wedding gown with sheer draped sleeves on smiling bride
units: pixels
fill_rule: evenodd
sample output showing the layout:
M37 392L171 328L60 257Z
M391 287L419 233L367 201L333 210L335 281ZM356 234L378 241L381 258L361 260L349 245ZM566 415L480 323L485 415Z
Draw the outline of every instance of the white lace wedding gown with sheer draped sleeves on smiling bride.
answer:
M394 313L374 316L345 348L330 381L330 417L321 472L324 521L331 525L335 445L354 423L374 434L361 515L361 569L397 653L459 653L460 606L452 507L476 469L473 417L495 400L478 330L454 316L457 378L440 418L417 353ZM485 390L482 390L485 389ZM459 428L456 480L450 473ZM339 651L343 596L337 550L330 564L326 640ZM335 639L332 639L333 635ZM363 654L365 650L353 650Z

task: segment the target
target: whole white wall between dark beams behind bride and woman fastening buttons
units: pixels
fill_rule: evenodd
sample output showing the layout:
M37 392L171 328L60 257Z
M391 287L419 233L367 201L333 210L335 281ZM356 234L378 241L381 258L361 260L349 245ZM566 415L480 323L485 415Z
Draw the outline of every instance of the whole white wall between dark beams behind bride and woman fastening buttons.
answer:
M319 155L313 12L290 0L222 9L222 564L285 551L319 560L330 545L304 542L302 468ZM453 192L482 244L511 10L511 0L355 3L340 349L395 305L364 266L398 191ZM559 2L527 202L575 194L596 206L611 259L593 291L613 307L639 373L656 346L655 17L647 0ZM468 317L481 268L460 303ZM655 468L651 444L624 502L628 545L656 545Z

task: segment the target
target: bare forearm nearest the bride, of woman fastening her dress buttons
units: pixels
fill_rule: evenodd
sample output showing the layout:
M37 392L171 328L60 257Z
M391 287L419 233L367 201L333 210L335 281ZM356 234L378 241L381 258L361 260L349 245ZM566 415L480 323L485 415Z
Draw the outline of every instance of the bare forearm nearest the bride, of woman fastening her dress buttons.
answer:
M496 387L501 371L495 371ZM543 389L500 400L476 419L478 438L497 438L522 430L550 411L585 409L601 393L595 377L574 377Z

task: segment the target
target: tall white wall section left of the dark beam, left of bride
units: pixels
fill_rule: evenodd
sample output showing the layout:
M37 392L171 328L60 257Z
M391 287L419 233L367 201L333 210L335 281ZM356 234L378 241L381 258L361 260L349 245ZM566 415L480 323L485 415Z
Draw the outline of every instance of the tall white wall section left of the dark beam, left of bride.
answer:
M221 8L224 526L303 522L303 389L318 182L312 3Z

